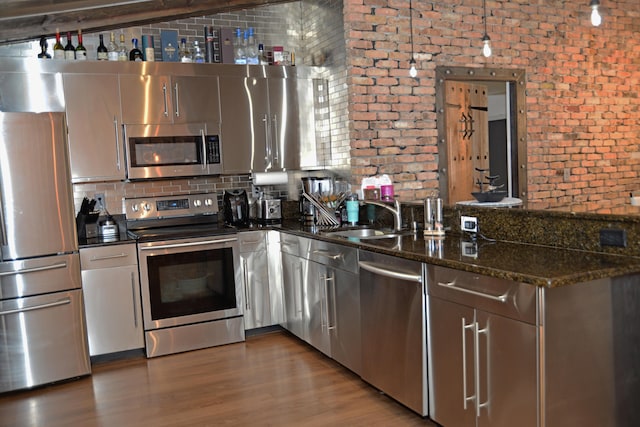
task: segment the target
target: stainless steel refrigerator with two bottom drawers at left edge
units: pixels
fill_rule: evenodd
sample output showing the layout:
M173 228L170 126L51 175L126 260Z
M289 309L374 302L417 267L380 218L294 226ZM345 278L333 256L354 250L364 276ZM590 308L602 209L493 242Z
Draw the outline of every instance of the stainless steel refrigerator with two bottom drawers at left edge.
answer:
M0 393L91 372L63 113L0 113Z

